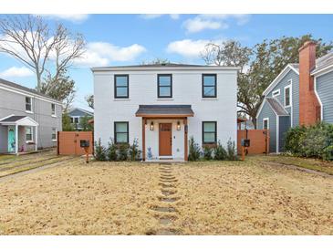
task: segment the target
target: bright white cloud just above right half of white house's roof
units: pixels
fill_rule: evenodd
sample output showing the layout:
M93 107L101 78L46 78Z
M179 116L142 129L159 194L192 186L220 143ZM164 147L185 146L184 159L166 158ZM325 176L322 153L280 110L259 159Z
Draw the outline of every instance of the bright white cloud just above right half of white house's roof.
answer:
M167 52L179 54L182 57L199 57L200 53L203 51L206 44L221 43L221 40L210 41L210 40L191 40L184 39L179 41L174 41L170 43L167 47Z

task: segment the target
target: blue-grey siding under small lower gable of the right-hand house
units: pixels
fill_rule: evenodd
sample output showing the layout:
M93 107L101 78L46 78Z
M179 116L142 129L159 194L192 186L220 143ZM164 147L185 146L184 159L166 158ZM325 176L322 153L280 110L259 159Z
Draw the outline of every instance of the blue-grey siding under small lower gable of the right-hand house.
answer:
M257 119L258 130L264 130L263 120L265 118L269 118L269 151L276 152L276 113L266 101Z

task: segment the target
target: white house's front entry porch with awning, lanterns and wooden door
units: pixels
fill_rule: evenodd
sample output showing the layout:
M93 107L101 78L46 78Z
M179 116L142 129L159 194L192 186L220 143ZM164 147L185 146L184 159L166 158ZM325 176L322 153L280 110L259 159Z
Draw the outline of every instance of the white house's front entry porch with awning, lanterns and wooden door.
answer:
M142 161L187 161L191 105L140 105Z

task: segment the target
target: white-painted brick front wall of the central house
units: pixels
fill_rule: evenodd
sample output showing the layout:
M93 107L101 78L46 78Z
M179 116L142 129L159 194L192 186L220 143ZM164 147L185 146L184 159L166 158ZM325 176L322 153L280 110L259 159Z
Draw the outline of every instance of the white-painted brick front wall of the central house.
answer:
M172 74L172 99L158 99L157 74L166 73ZM202 98L202 74L209 73L217 74L216 99ZM114 99L115 74L130 75L130 99ZM236 141L236 78L237 71L229 68L95 71L95 140L100 138L107 145L114 136L113 122L129 121L130 143L138 138L141 147L141 118L135 116L139 105L187 104L194 111L194 116L188 119L189 138L193 136L202 144L202 121L217 121L217 139L224 145L229 139ZM154 120L155 130L146 128L146 148L151 146L153 156L158 154L158 122ZM172 157L183 158L183 126L177 131L176 122L172 123Z

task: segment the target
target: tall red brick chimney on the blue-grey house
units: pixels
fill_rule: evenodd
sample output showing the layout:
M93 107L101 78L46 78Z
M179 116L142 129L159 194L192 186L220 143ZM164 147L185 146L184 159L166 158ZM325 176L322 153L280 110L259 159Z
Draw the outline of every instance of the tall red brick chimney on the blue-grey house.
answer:
M314 78L310 75L316 67L316 43L307 41L299 52L299 124L313 125L320 120L320 104L314 91Z

